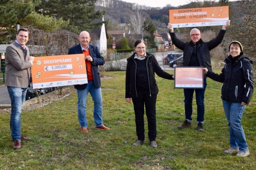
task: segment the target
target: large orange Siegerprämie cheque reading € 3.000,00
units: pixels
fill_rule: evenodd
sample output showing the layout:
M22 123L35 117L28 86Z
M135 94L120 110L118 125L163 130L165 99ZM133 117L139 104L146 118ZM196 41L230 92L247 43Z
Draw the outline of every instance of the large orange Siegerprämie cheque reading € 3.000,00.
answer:
M35 57L33 88L49 88L87 83L84 54Z

